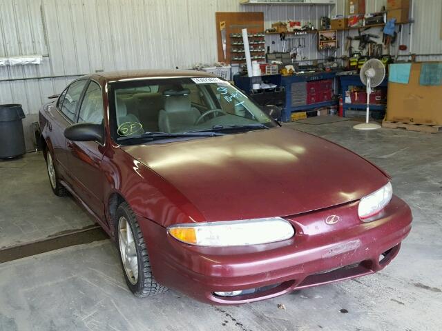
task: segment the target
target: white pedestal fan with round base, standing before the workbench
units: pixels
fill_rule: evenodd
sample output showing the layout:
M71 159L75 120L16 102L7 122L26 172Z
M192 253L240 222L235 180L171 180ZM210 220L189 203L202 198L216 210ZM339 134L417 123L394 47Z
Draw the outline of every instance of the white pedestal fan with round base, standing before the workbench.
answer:
M376 86L384 80L385 66L378 59L369 59L363 64L359 77L361 77L363 84L367 86L367 111L365 113L365 123L356 124L353 128L357 130L375 130L381 128L378 123L369 123L369 103L372 88L376 88Z

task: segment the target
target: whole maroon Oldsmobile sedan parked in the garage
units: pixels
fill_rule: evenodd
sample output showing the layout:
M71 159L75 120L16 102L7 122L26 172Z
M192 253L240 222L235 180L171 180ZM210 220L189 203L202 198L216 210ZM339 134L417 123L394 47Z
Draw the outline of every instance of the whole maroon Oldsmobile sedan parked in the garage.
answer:
M381 270L410 232L385 172L211 74L81 77L39 122L52 190L115 240L137 297L276 297Z

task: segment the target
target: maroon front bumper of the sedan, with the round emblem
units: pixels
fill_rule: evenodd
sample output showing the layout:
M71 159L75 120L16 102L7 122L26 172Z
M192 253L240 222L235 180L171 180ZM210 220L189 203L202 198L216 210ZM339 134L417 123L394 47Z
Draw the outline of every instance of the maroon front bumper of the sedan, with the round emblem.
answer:
M411 210L393 197L380 219L363 223L357 208L356 202L286 217L296 230L293 238L229 248L186 245L157 223L142 217L138 221L155 279L200 301L222 305L269 299L383 269L410 232ZM340 222L327 225L324 220L331 214ZM252 288L264 289L236 297L213 294Z

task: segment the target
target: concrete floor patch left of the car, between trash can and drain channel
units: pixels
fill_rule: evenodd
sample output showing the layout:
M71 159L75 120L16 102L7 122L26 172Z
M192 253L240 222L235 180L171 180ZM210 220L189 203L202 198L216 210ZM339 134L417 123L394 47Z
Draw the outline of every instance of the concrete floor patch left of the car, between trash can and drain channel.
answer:
M0 161L0 248L95 223L69 197L52 194L41 152Z

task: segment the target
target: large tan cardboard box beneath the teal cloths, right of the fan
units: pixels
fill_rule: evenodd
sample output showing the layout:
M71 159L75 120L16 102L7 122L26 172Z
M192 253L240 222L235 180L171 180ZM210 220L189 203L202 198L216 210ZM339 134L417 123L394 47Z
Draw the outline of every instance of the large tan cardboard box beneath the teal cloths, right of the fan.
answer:
M421 85L421 65L412 63L407 84L388 82L386 121L442 125L442 86Z

